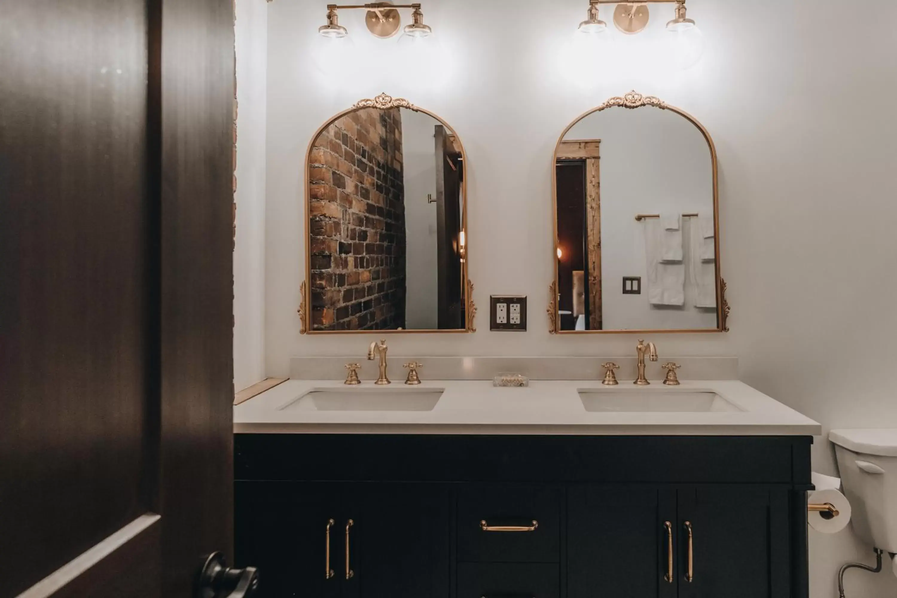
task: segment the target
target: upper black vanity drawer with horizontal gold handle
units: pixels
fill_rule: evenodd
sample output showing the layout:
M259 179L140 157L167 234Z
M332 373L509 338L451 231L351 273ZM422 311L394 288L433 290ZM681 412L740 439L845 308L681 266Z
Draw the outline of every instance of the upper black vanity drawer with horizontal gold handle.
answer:
M540 562L560 559L562 490L523 484L472 484L457 505L458 560Z

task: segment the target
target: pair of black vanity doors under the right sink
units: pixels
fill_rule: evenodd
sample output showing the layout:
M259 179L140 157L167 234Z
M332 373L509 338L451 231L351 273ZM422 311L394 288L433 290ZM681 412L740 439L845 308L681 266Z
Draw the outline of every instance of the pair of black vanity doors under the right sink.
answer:
M588 484L568 504L570 598L792 595L787 490Z

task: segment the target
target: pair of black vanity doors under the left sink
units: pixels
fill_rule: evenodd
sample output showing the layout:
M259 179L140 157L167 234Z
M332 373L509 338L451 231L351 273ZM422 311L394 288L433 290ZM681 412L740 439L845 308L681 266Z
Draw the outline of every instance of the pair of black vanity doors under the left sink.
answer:
M237 481L237 558L260 595L448 598L453 502L440 484Z

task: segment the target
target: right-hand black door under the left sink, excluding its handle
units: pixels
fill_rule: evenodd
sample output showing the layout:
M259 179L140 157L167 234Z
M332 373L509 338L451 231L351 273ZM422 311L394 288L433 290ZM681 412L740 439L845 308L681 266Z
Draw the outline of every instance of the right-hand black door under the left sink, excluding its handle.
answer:
M363 598L448 598L451 485L371 483L363 496L355 581Z

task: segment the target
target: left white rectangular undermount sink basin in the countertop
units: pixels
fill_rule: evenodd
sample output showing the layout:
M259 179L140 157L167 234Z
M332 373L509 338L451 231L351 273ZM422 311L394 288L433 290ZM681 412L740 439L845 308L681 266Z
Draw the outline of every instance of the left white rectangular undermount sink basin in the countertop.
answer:
M445 388L315 388L280 410L303 412L431 412Z

